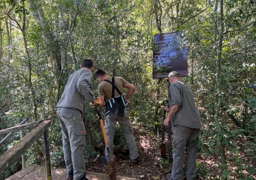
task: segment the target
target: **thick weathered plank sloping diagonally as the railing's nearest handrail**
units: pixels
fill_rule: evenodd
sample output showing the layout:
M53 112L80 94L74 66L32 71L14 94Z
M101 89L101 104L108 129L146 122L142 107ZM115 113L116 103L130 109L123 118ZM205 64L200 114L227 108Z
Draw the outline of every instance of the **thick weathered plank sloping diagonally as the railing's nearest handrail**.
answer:
M0 156L0 176L6 172L19 158L20 154L25 151L42 136L43 132L51 125L51 120L45 120L34 128L28 135L23 137L17 144L9 148L2 156Z

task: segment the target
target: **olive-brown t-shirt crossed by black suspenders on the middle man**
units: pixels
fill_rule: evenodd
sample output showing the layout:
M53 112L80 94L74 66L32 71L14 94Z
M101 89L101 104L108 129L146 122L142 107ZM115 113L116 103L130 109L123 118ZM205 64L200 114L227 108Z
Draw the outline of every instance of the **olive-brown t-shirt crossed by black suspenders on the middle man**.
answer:
M107 78L112 82L112 77ZM119 89L119 91L123 94L123 87L125 84L129 82L123 79L122 77L115 77L115 85ZM98 87L99 96L105 96L106 101L112 98L112 84L106 81L102 81ZM118 92L115 90L115 97L120 96Z

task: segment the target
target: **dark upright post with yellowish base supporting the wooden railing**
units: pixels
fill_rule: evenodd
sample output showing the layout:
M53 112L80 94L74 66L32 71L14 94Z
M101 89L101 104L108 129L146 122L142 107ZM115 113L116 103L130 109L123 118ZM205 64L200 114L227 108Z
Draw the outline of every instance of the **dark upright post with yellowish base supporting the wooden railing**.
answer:
M43 142L45 144L45 165L46 165L46 179L52 180L51 160L50 160L50 148L48 130L43 131Z

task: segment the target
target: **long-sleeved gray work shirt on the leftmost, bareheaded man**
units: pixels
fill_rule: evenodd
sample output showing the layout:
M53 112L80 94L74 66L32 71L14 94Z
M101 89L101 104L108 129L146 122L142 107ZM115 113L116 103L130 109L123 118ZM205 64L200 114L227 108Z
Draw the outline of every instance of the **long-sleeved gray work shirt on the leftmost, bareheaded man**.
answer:
M56 107L76 108L83 112L85 98L90 102L95 99L91 92L92 79L93 73L85 68L72 73Z

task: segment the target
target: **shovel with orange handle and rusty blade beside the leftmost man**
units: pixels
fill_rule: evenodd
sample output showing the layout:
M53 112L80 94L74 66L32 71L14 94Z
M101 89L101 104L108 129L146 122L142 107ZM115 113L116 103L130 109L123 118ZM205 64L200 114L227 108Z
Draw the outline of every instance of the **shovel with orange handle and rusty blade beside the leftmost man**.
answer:
M100 128L101 128L101 131L102 131L102 134L103 134L106 149L107 149L108 154L109 154L108 138L106 137L106 131L105 131L104 124L103 124L103 119L102 119L102 115L101 115L101 107L99 108L99 111L97 110L97 107L95 107L95 110L96 110L96 112L99 116ZM116 164L115 164L114 156L111 157L111 160L108 162L108 172L109 172L110 180L116 180Z

